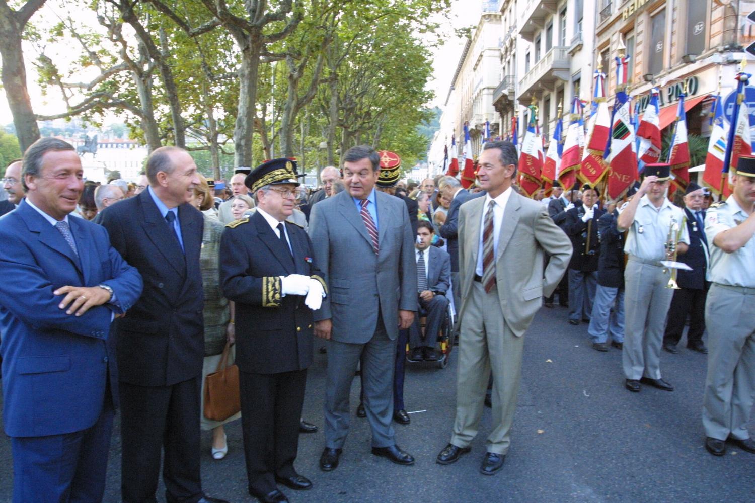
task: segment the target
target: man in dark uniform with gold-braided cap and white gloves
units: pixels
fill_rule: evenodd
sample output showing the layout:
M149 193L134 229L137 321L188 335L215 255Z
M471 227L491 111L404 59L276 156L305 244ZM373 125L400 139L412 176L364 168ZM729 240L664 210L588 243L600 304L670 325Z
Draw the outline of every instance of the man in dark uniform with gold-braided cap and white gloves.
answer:
M295 161L261 164L245 179L257 211L226 225L220 241L223 295L236 302L236 365L241 388L249 493L263 502L288 501L276 482L312 488L294 460L312 364L312 308L325 281L303 228L286 222L300 185ZM306 296L306 297L305 297Z

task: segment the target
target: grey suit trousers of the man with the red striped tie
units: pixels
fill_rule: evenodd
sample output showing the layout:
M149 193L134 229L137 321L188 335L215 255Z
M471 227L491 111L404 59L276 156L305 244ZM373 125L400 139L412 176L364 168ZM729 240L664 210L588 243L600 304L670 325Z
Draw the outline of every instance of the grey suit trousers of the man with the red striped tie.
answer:
M363 354L363 357L362 357ZM396 444L393 419L393 366L396 341L388 339L383 320L377 318L372 339L364 344L328 341L328 373L325 379L325 446L341 449L349 433L349 394L362 357L362 389L372 446Z

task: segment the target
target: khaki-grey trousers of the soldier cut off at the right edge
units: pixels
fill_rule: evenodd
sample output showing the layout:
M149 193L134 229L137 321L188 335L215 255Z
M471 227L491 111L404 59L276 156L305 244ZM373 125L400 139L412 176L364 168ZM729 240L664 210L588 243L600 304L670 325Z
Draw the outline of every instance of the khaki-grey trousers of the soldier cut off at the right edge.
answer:
M744 440L755 399L755 289L711 285L705 303L708 368L703 397L707 437Z

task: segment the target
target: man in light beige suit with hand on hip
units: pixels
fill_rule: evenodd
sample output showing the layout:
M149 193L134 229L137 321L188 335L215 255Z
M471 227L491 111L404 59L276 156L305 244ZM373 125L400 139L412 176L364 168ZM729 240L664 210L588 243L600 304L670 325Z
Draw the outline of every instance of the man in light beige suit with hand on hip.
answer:
M459 210L462 304L456 420L451 443L437 462L450 465L470 452L492 370L493 429L480 466L485 475L501 470L509 449L522 336L541 297L553 293L572 256L571 241L550 219L547 207L511 188L516 164L512 143L485 143L477 179L487 194ZM550 255L545 270L544 253Z

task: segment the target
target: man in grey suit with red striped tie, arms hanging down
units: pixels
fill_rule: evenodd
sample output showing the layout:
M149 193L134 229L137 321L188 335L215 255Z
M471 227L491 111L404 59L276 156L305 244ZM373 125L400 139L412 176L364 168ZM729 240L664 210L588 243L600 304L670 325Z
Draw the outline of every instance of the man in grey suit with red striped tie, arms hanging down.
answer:
M391 425L396 337L417 311L414 236L404 202L374 189L379 170L374 149L353 147L344 155L347 190L320 201L310 216L315 259L330 291L314 316L315 335L330 341L324 471L337 468L349 431L349 393L359 357L372 453L399 465L414 463L396 446Z

